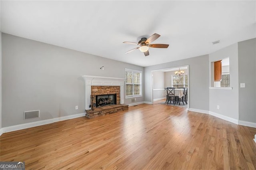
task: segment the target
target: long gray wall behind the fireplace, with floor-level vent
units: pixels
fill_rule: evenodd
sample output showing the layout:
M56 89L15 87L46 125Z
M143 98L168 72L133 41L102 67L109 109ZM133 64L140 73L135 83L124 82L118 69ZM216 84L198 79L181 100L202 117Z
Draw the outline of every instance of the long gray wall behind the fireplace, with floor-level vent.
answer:
M124 78L125 68L142 71L143 87L143 67L2 34L2 127L84 113L82 75ZM38 109L40 119L23 120Z

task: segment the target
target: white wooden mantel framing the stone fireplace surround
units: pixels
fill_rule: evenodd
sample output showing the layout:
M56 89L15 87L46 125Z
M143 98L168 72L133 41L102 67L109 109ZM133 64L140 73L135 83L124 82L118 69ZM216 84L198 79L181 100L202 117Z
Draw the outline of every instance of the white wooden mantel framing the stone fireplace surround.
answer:
M91 86L120 86L120 104L124 104L124 80L116 77L101 77L93 75L83 75L85 91L85 110L90 109Z

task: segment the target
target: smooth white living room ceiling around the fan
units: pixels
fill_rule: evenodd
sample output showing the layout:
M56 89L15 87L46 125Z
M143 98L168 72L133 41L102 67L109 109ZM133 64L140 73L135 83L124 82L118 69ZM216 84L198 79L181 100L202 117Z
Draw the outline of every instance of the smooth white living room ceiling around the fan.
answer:
M2 1L1 31L140 66L204 55L256 37L256 1ZM125 54L158 33L145 57ZM220 43L212 45L212 42Z

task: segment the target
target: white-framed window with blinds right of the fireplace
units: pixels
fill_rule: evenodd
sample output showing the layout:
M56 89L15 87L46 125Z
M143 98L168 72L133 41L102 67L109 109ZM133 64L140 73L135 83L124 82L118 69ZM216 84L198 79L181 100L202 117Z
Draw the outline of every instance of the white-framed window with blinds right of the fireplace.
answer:
M125 69L125 97L142 95L141 91L141 71Z

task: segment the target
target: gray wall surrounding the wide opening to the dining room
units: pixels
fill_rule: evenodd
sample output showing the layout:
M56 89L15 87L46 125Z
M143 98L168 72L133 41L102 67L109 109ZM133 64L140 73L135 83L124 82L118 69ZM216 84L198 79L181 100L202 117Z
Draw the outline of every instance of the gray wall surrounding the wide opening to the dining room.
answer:
M144 68L144 99L152 102L151 71L189 65L189 104L192 109L209 110L209 67L208 55L152 65Z

